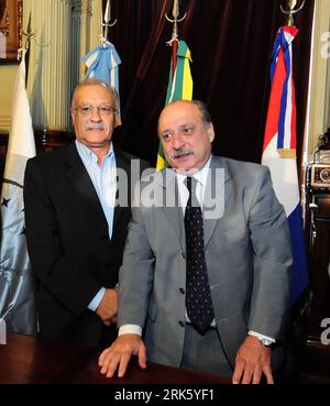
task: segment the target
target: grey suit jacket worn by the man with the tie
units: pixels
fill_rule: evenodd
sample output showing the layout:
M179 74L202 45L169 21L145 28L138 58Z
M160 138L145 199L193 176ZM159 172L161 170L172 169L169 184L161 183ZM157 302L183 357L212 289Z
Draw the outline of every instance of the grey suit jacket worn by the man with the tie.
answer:
M142 182L119 275L119 326L144 327L148 360L179 366L186 244L183 209L176 197L173 200L175 185L172 169ZM205 205L215 190L220 211L210 218L204 207L205 253L217 328L234 364L249 329L280 336L289 294L290 237L265 166L212 156ZM148 195L153 201L146 201ZM164 207L166 199L175 207Z

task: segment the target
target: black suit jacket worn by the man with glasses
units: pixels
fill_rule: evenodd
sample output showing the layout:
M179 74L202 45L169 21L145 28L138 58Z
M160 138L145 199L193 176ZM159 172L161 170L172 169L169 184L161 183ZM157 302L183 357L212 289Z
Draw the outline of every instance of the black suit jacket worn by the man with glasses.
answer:
M130 185L133 156L114 151ZM147 166L140 163L141 169ZM29 160L24 204L28 250L40 282L41 336L98 345L105 327L87 306L102 286L118 283L130 204L116 207L109 240L102 207L75 144Z

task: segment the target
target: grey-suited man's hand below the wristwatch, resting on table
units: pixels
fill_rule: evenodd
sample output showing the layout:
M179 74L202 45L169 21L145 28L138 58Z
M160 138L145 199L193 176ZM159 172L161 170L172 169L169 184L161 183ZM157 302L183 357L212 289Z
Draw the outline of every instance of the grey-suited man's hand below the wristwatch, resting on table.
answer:
M258 384L264 373L267 384L274 384L271 354L272 350L263 345L257 338L248 336L237 354L232 383Z

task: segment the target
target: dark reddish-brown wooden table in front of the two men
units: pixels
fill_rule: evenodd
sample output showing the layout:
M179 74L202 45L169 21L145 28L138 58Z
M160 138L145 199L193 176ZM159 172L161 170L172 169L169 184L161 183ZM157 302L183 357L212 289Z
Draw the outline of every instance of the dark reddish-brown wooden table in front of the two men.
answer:
M40 384L228 384L230 380L147 363L139 367L134 358L124 377L106 378L99 372L99 352L79 344L42 340L8 333L7 344L0 345L0 383Z

